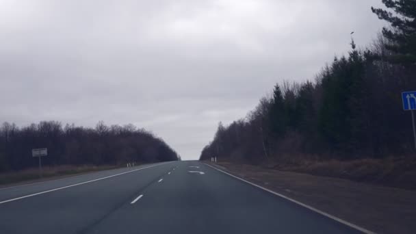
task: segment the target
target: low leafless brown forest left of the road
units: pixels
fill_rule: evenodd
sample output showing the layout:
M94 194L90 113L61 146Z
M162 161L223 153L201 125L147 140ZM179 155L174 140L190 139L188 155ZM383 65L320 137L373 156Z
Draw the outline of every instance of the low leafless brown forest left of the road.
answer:
M36 167L32 148L48 148L45 166L64 164L117 165L179 159L176 152L151 132L134 125L95 128L44 121L26 127L4 122L0 127L0 172Z

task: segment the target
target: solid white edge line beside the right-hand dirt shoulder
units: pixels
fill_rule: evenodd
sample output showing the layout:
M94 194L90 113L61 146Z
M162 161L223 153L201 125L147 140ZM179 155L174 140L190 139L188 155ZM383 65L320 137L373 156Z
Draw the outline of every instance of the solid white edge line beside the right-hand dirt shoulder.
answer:
M203 163L203 164L205 164L205 163ZM329 213L326 213L326 212L324 212L324 211L321 211L321 210L319 210L319 209L316 209L316 208L314 208L314 207L311 207L310 205L306 205L306 204L301 203L301 202L299 202L299 201L297 201L297 200L294 200L294 199L292 199L292 198L289 198L289 197L287 197L287 196L285 196L285 195L278 194L277 192L274 192L274 191L272 191L272 190L269 190L269 189L267 189L267 188L265 188L265 187L261 187L260 185L257 185L257 184L255 184L255 183L251 183L250 181L246 181L245 179L242 179L242 178L237 177L237 176L235 176L235 175L233 175L233 174L230 174L229 172L224 172L223 170L220 170L220 169L215 168L215 167L213 167L213 166L211 166L211 165L208 165L208 164L205 164L205 165L207 165L207 166L209 166L210 168L213 168L213 169L215 169L215 170L218 170L218 171L220 171L220 172L222 172L222 173L224 173L224 174L228 174L230 177L234 177L235 179L239 179L240 181L244 181L244 182L246 182L246 183L249 183L250 185L253 185L253 186L255 186L255 187L258 187L258 188L260 188L261 190L265 190L266 192L270 192L270 193L272 193L272 194L274 194L274 195L276 195L276 196L280 196L281 198L285 198L286 200L289 200L289 201L291 201L292 203L296 203L296 204L298 204L298 205L300 205L300 206L302 206L302 207L305 207L305 208L307 208L307 209L310 209L311 211L315 211L316 213L320 213L322 216L326 216L326 217L328 217L328 218L330 218L330 219L332 219L332 220L335 220L335 221L337 221L337 222L340 222L341 224L345 224L345 225L347 225L347 226L350 226L350 227L352 227L353 229L356 229L356 230L361 231L361 232L366 233L366 234L376 234L376 233L374 233L373 231L369 231L369 230L367 230L367 229L364 229L364 228L362 228L361 226L357 226L357 225L352 224L352 223L350 223L350 222L348 222L348 221L346 221L346 220L341 220L341 218L337 218L337 217L335 217L335 216L332 216L332 215L330 215Z

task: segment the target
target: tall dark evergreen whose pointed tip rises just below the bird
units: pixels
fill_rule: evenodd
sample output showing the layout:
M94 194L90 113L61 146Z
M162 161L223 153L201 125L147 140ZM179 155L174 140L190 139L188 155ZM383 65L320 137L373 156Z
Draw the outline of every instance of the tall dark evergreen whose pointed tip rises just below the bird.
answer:
M322 78L319 129L329 146L337 151L354 151L354 133L361 127L355 115L360 113L361 105L358 104L363 98L364 64L354 40L351 47L350 56L339 60L335 58L330 70Z

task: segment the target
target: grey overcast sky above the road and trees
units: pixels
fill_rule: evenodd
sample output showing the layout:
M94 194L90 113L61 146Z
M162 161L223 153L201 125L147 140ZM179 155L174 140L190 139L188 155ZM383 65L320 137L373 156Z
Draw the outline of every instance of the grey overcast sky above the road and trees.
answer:
M381 0L0 0L0 122L133 123L197 159L283 79L382 27Z

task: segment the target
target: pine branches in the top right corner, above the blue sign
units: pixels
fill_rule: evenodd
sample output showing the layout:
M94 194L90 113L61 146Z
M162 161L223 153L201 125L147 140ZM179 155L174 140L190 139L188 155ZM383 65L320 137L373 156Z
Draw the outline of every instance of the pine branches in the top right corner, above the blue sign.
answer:
M416 63L416 0L382 0L390 11L372 8L378 18L390 23L391 28L383 28L382 34L389 40L386 49L395 53L387 58L399 64Z

